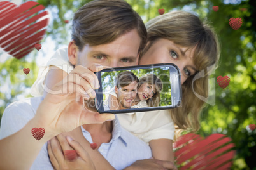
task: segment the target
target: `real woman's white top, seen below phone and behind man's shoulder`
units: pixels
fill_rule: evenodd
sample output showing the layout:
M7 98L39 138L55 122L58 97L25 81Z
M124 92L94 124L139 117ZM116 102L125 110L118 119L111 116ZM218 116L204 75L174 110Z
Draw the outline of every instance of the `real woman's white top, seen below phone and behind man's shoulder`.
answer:
M68 59L68 48L58 49L45 68L49 65L55 65L68 73L71 72L73 65L71 65ZM45 75L46 72L45 74L40 74L39 72L38 79L31 88L32 96L43 96L42 84L44 84ZM117 114L117 116L124 129L130 131L146 143L160 138L173 140L175 128L169 110Z

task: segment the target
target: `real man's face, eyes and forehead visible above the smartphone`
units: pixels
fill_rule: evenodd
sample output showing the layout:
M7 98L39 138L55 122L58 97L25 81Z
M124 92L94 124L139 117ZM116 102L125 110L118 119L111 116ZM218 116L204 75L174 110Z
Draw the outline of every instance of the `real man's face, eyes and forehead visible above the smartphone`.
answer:
M140 41L136 29L133 29L108 44L85 45L82 51L77 50L75 65L84 67L90 67L93 63L107 67L138 65Z

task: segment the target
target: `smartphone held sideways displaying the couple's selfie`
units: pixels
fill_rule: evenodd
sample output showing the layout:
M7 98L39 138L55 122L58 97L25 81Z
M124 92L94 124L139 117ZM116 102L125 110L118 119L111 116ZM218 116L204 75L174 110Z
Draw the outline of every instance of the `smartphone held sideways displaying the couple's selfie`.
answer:
M180 69L173 63L115 67L95 72L99 113L131 113L176 108L181 103Z

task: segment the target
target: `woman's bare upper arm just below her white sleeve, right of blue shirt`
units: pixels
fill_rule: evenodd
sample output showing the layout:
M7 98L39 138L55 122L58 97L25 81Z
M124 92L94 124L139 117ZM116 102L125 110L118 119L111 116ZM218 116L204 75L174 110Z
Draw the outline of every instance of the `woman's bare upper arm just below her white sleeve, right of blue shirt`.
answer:
M174 163L173 140L151 140L149 145L154 159L168 160Z

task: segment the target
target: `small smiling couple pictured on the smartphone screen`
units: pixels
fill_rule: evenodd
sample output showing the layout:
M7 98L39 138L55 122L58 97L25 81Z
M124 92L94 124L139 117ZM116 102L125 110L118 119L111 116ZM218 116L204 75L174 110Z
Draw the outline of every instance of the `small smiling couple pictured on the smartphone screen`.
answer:
M104 110L119 110L159 106L162 81L155 74L141 77L125 71L115 79L115 91L108 97Z

